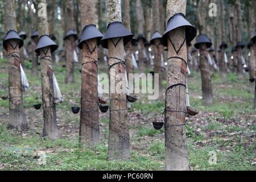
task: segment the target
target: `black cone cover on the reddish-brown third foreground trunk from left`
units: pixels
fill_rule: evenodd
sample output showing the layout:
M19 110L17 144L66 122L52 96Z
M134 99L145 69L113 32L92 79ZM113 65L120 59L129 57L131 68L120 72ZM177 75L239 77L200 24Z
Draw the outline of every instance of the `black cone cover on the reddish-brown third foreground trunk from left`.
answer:
M103 37L103 34L101 34L101 32L98 31L95 24L88 24L82 30L82 35L79 40L79 48L82 49L82 43L84 41L89 39L95 39L95 38L97 38L97 45L99 46L101 43L102 37Z

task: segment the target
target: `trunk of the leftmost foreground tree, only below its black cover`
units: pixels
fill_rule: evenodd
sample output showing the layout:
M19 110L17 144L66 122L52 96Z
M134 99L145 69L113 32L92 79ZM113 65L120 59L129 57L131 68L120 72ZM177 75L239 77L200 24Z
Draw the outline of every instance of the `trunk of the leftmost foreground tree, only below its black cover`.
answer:
M28 129L26 115L23 109L22 86L20 76L19 46L14 49L18 42L11 40L7 48L9 57L9 129L23 130Z

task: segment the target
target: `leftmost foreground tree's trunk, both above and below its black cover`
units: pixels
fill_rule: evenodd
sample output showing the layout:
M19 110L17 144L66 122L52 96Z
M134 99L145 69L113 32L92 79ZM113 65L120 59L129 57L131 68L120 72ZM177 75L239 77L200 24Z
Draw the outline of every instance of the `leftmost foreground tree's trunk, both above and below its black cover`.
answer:
M15 1L5 0L5 29L16 30ZM10 40L7 43L9 68L9 129L28 130L27 118L23 108L22 83L20 76L19 41Z

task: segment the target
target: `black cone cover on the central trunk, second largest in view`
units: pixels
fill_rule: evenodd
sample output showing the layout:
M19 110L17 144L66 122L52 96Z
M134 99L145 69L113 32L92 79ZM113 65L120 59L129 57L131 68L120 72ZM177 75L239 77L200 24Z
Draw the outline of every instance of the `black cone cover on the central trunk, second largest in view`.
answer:
M123 46L125 46L132 38L133 34L128 31L121 22L112 22L108 24L108 30L101 39L101 46L108 48L108 39L123 38Z

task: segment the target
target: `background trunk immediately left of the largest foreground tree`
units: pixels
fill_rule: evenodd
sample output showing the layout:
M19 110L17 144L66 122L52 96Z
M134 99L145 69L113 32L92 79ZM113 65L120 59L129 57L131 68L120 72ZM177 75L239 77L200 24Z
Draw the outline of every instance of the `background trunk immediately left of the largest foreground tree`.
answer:
M154 32L160 32L160 13L159 13L159 0L152 0L152 11L153 11L153 24ZM152 34L154 34L152 32ZM159 89L162 90L162 64L161 64L161 55L162 55L162 45L160 39L155 39L154 44L152 45L152 53L154 55L154 73L159 74ZM161 92L160 92L161 93Z

